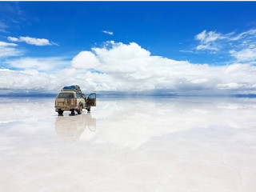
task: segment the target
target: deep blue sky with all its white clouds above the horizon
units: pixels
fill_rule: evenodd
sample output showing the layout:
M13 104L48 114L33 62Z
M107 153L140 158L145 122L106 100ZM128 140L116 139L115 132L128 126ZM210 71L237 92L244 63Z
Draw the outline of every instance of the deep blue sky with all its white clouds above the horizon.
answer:
M0 2L0 94L256 94L256 2Z

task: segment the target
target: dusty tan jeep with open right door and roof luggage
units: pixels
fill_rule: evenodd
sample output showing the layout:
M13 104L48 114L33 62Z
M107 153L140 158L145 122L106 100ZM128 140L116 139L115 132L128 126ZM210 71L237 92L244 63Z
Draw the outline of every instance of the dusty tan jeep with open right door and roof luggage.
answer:
M90 94L86 98L79 86L64 86L55 100L55 111L58 114L63 114L64 110L69 110L72 114L76 110L78 114L82 114L82 109L90 112L91 106L96 106L96 94Z

